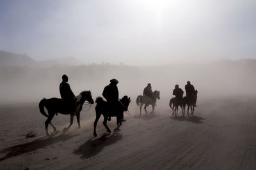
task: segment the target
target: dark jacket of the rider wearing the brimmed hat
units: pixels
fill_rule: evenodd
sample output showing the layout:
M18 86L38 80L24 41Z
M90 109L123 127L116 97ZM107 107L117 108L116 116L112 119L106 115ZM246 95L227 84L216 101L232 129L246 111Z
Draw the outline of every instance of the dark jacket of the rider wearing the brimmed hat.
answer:
M102 96L108 101L108 102L114 102L118 101L118 88L114 83L110 83L107 85L102 93Z

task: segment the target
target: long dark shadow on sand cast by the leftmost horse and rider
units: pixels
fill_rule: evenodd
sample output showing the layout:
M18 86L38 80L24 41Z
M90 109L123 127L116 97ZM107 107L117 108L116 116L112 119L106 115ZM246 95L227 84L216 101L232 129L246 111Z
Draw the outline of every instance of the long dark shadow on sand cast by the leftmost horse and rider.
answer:
M58 134L57 134L58 135ZM31 141L29 143L24 143L21 145L15 145L8 148L4 148L0 153L8 152L4 157L0 158L0 162L4 159L9 159L10 157L15 157L18 155L22 155L24 153L32 152L34 150L38 150L40 148L44 148L46 146L52 145L54 143L58 143L59 141L66 141L67 139L73 138L78 134L60 134L58 136L45 136L43 138L36 139L35 141Z

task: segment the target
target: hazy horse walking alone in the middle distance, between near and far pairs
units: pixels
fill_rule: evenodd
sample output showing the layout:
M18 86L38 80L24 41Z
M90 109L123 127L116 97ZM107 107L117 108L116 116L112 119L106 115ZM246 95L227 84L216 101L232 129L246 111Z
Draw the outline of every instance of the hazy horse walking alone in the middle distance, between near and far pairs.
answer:
M146 111L146 114L148 113L147 111L147 106L148 104L152 105L152 111L150 113L154 113L155 106L156 106L156 99L160 99L160 91L155 90L153 92L153 97L148 97L148 96L138 96L136 99L136 103L138 106L140 106L140 115L141 115L141 108L143 104L145 104L144 110Z

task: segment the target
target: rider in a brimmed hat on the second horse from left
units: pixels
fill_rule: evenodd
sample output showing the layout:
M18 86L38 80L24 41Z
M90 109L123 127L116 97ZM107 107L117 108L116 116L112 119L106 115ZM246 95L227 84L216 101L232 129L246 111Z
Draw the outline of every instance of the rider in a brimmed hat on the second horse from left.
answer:
M118 99L118 88L117 85L118 84L118 80L116 80L115 78L110 80L109 85L107 85L102 93L102 96L107 100L108 103L108 111L109 112L116 112L118 111L118 108L124 108L124 105L119 101ZM117 113L119 114L119 113ZM118 118L118 122L124 122L124 113L117 115ZM108 120L111 120L111 116L109 115Z

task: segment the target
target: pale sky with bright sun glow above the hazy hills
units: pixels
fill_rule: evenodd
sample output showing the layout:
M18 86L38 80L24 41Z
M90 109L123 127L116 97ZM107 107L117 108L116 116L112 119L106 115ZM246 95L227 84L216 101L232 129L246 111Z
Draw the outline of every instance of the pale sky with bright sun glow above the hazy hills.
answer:
M135 66L256 59L255 0L1 0L0 50Z

